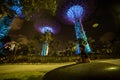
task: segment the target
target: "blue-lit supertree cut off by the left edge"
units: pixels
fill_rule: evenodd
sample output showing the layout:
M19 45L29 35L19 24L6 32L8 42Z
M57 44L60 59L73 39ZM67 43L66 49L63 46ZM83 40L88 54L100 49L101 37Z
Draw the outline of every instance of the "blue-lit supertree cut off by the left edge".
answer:
M12 0L12 6L9 5L10 0L5 0L3 7L6 11L6 15L0 19L0 53L2 53L3 41L2 39L7 36L10 25L16 15L22 16L22 6L20 0Z

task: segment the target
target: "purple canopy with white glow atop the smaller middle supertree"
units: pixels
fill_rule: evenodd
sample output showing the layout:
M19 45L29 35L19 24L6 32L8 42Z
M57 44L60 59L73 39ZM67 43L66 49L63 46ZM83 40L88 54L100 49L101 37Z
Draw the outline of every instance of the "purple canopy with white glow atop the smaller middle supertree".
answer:
M53 34L57 34L60 30L58 24L51 20L40 20L35 23L35 28L38 32L44 34L45 32L49 31Z

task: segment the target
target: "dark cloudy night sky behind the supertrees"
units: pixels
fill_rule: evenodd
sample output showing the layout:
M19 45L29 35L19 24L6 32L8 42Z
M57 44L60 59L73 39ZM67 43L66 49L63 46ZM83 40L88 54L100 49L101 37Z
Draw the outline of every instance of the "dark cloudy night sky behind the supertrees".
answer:
M62 4L62 0L60 0ZM93 13L83 22L84 30L87 37L92 37L95 40L100 40L105 34L109 35L109 39L115 39L120 37L120 2L115 0L96 0L95 10ZM42 12L42 11L41 11ZM45 11L44 13L48 13ZM62 42L63 48L66 47L68 41L75 41L75 31L73 25L62 23L56 16L47 17L54 19L60 26L60 32L55 35L57 40ZM16 18L12 24L9 36L12 39L24 36L32 39L36 33L34 28L35 18L31 21L25 21L23 19ZM36 20L39 20L37 18ZM93 24L99 24L97 27L92 27ZM39 33L41 34L41 33ZM109 40L108 39L108 40Z

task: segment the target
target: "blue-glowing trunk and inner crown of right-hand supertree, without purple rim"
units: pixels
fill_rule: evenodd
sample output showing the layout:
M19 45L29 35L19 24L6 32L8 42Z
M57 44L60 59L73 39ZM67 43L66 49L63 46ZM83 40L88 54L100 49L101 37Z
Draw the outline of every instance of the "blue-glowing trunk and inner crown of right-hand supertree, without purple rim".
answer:
M66 12L67 18L75 24L75 32L77 40L82 39L80 44L86 45L86 52L91 52L90 46L87 42L87 37L85 35L85 31L83 30L83 26L81 23L81 18L83 14L83 8L80 5L73 5ZM79 43L77 43L77 53L79 51Z

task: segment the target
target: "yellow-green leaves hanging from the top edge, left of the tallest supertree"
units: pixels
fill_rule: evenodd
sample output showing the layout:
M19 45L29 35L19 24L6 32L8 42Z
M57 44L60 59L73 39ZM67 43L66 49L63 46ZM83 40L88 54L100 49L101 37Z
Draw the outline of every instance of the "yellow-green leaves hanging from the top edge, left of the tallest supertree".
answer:
M48 10L52 15L55 15L57 3L56 0L21 0L23 5L23 13L29 19L35 12Z

